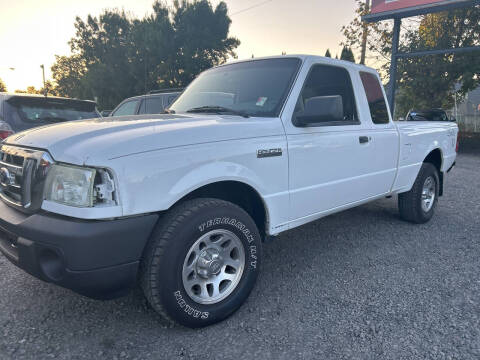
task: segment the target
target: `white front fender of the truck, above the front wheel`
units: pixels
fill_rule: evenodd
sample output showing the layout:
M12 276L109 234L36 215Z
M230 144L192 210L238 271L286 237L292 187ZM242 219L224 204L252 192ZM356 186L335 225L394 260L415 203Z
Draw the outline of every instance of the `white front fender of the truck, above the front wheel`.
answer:
M258 158L257 149L283 149ZM261 196L271 226L288 223L288 157L284 136L240 139L166 149L115 159L124 216L159 212L196 189L238 181Z

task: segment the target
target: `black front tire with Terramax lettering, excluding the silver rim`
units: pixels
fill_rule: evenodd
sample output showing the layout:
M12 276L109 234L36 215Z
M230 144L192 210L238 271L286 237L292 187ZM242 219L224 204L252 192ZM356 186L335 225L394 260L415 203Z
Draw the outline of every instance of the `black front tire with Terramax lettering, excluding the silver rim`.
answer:
M215 304L198 303L182 281L185 257L203 234L228 230L240 238L245 265L233 292ZM259 273L261 237L252 218L239 206L218 199L194 199L172 208L157 224L140 264L140 285L150 305L171 322L199 328L233 314L247 299Z

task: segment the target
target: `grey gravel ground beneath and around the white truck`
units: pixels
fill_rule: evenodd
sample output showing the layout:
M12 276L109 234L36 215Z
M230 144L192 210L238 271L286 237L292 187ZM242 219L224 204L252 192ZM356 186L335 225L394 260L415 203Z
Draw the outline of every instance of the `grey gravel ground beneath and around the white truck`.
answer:
M479 359L480 155L464 154L433 220L377 201L265 244L247 303L169 327L139 291L98 302L0 255L0 359Z

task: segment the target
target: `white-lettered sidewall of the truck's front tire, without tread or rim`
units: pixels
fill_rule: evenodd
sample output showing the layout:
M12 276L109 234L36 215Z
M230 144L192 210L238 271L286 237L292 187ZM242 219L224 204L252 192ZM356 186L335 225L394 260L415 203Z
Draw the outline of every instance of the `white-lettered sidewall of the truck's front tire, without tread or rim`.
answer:
M262 244L255 223L248 214L239 211L238 207L210 207L192 217L194 218L190 221L186 218L175 233L176 239L185 241L172 241L171 250L167 250L175 253L175 256L166 258L165 268L175 270L173 276L169 276L163 298L167 314L177 322L203 327L229 316L248 297L261 267ZM215 229L228 230L241 240L245 251L245 266L240 282L228 297L218 303L201 304L190 298L184 289L183 263L190 246L199 237Z

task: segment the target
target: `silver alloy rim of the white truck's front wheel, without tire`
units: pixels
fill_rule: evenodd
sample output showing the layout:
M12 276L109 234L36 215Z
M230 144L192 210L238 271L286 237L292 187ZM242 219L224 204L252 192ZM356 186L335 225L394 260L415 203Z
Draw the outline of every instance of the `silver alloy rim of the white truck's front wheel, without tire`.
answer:
M234 233L217 229L201 236L185 257L183 287L199 304L224 300L237 287L245 267L245 250Z

